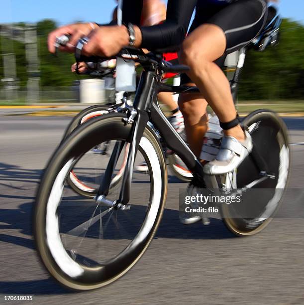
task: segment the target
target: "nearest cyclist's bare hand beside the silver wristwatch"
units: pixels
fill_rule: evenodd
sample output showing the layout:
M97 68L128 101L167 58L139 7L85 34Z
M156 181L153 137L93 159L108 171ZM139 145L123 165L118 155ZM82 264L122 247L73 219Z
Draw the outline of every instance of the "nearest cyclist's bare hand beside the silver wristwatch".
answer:
M129 44L129 34L125 26L101 26L91 32L90 41L83 48L83 55L105 56L116 55Z

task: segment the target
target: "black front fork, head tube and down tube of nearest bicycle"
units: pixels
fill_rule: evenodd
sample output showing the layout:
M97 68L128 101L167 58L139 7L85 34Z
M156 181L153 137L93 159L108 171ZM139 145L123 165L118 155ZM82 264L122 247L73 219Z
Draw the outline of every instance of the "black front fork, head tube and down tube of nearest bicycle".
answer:
M130 133L132 141L129 146L118 203L126 205L129 202L134 159L148 121L151 121L158 130L167 147L174 150L187 167L203 179L203 165L160 110L157 102L157 93L161 89L162 86L157 84L155 71L146 70L142 72L133 103L137 116L132 123ZM171 92L173 90L174 87L172 87Z

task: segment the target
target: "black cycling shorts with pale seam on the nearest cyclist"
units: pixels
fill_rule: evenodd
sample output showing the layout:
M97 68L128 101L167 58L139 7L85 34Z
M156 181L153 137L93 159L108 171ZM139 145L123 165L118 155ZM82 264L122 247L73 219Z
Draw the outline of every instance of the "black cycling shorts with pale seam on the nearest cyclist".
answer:
M227 5L197 7L189 33L204 23L219 26L226 35L225 54L215 61L222 68L227 54L248 45L265 26L268 9L266 0L236 0ZM202 46L203 47L203 46ZM187 74L181 75L181 83L192 82Z

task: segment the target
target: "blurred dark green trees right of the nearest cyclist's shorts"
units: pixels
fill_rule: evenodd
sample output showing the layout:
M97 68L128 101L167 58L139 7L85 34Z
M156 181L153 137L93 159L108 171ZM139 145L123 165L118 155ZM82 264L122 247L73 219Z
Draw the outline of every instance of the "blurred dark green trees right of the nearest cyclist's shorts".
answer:
M276 47L250 50L240 84L240 99L303 99L304 27L284 19Z

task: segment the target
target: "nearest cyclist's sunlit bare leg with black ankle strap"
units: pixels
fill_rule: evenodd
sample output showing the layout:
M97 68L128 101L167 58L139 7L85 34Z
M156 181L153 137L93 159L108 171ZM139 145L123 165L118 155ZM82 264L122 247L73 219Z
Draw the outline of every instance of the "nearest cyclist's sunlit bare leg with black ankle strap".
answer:
M203 47L202 47L203 46ZM187 73L197 84L220 122L230 122L236 117L229 81L214 63L226 49L226 36L217 25L203 24L184 41L180 62L190 66ZM193 111L197 111L195 108ZM240 125L224 131L226 136L244 140Z

